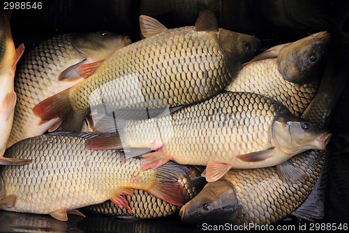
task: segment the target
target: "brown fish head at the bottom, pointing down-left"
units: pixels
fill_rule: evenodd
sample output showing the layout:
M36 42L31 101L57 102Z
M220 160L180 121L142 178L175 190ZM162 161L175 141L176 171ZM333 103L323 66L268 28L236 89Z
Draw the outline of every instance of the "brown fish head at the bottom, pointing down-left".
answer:
M184 223L227 223L235 219L237 197L228 181L207 183L199 194L181 207Z

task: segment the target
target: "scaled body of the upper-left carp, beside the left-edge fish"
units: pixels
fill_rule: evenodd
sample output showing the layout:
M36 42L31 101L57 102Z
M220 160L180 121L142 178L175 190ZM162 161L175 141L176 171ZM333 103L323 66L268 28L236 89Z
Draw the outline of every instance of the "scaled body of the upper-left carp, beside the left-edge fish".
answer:
M57 44L65 46L56 46ZM49 51L55 51L61 55L57 57ZM64 56L62 56L63 54ZM54 56L56 59L54 59ZM36 59L33 59L33 57ZM15 107L15 120L8 139L8 146L20 141L22 139L21 135L25 134L27 129L31 127L27 119L32 118L33 113L28 109L33 108L35 103L43 100L40 95L50 97L57 93L54 91L57 90L57 87L61 91L72 85L71 83L66 83L66 85L63 83L62 85L62 82L57 80L57 70L63 71L68 66L75 64L77 62L76 57L77 51L71 44L71 34L63 34L51 38L45 43L40 43L35 50L31 50L20 62L15 76L15 92L17 93L17 99L20 101L17 101ZM50 69L45 67L50 67ZM35 78L40 76L43 78Z

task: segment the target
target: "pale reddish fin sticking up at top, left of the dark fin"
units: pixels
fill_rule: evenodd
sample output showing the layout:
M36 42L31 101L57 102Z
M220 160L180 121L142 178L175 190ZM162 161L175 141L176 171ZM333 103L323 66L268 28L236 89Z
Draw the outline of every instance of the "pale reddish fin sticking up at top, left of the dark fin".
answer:
M140 15L140 31L145 38L167 30L168 28L163 26L158 20L147 15Z

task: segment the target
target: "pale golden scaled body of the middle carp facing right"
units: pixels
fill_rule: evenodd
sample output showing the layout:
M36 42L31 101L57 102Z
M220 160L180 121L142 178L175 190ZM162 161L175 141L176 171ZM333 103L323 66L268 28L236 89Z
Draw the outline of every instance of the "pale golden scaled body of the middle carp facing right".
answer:
M240 104L241 101L245 104ZM255 103L258 108L253 108ZM149 147L152 146L149 142L155 141L155 146L163 144L166 157L173 156L176 162L183 164L205 165L212 160L230 162L232 156L229 155L270 147L265 132L272 128L278 108L280 104L257 94L218 94L163 118L128 120L124 142L128 146ZM246 125L251 119L259 122L257 131ZM229 146L233 141L234 146Z

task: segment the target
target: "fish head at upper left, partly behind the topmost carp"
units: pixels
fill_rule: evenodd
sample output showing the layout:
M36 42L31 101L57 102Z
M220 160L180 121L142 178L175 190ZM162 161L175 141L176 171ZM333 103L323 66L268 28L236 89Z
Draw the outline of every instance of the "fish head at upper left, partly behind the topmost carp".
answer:
M131 43L129 36L110 31L95 31L87 34L74 34L72 44L86 57L96 60L107 58L115 50Z

